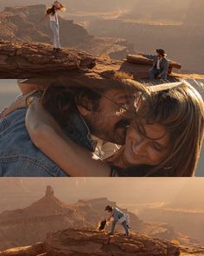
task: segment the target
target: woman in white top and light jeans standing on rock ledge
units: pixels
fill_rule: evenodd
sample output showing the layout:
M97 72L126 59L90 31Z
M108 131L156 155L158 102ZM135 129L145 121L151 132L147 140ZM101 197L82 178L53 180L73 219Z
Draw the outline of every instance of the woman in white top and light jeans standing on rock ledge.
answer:
M48 10L46 10L46 15L41 19L41 21L43 21L44 19L49 17L50 29L52 30L53 36L54 36L54 40L53 40L54 41L54 51L61 50L60 27L59 27L58 15L57 15L57 12L59 10L66 10L66 8L60 2L54 1L52 6L50 8L48 8Z

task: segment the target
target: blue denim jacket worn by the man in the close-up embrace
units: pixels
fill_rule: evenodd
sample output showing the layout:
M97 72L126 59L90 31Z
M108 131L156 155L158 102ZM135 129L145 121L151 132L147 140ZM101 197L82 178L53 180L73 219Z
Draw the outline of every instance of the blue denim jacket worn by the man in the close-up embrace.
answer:
M54 161L36 148L25 127L27 108L14 111L0 120L0 176L4 177L66 177ZM78 113L70 116L73 129L67 136L81 147L93 151L85 121Z

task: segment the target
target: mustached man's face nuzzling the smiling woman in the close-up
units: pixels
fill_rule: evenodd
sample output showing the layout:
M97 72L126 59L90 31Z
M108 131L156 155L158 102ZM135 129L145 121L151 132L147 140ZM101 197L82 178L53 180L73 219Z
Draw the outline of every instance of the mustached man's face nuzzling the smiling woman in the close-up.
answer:
M133 105L133 102L134 99L131 92L123 89L109 89L105 91L99 99L99 107L86 116L86 121L92 135L105 141L123 145L126 128L131 121L125 108Z

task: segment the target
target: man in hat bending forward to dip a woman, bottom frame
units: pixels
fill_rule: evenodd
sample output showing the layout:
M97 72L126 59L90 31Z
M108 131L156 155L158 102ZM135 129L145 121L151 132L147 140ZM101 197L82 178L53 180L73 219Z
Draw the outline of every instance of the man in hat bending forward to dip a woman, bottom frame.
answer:
M120 211L117 207L111 207L111 206L106 206L105 211L110 213L110 215L107 217L107 221L112 220L112 230L109 233L112 235L115 230L116 223L120 223L124 227L125 235L129 235L129 225L127 223L128 220L128 214L123 213ZM113 218L113 219L112 219Z

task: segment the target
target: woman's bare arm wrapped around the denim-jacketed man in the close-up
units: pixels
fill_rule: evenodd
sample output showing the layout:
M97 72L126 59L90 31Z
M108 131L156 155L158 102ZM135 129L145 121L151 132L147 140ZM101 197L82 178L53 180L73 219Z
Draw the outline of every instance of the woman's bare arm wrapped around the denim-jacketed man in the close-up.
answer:
M111 167L68 139L39 101L29 106L26 127L35 146L70 176L110 176Z

